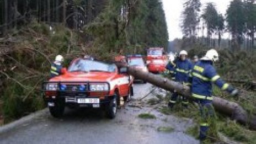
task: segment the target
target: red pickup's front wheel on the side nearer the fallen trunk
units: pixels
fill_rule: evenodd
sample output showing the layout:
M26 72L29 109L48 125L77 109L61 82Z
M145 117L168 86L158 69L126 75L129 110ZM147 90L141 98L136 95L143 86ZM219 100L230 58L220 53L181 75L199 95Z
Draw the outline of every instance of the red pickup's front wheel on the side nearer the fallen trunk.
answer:
M106 106L106 115L109 119L114 119L116 116L116 110L118 109L117 97L118 95L112 98Z

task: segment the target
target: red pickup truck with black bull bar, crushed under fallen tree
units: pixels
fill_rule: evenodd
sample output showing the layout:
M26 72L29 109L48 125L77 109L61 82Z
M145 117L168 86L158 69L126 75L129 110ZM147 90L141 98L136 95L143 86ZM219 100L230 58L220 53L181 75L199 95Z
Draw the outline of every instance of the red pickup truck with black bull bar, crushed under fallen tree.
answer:
M114 64L77 58L61 76L42 84L44 99L57 118L70 106L101 108L112 119L120 98L129 101L133 95L133 79L126 73Z

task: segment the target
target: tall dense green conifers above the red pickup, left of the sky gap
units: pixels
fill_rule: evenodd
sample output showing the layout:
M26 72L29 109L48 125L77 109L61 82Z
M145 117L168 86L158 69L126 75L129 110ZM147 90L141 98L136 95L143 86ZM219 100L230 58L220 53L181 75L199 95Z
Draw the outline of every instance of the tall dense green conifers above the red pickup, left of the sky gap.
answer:
M127 8L129 14L121 15L121 7ZM167 47L168 44L162 2L157 0L130 3L111 0L103 13L86 26L86 32L94 36L94 49L99 52L122 50L129 54L144 54L149 46Z

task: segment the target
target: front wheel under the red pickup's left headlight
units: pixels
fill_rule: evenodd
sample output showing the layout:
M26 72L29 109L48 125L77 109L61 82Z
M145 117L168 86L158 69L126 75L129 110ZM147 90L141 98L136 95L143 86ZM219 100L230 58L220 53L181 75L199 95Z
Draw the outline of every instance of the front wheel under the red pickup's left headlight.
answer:
M54 116L55 118L61 118L65 110L65 104L63 100L62 99L56 100L55 106L50 106L49 110L52 116Z

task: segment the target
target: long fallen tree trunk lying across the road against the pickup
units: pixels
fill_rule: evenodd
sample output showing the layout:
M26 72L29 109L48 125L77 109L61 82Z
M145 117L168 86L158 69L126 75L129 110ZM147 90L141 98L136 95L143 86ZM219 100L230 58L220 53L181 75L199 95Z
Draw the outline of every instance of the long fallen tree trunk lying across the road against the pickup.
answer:
M125 66L124 64L118 66ZM127 67L127 71L130 75L154 84L157 87L173 91L176 90L179 94L185 97L191 98L190 88L188 86L183 86L178 82L170 81L167 78L163 78L159 75L143 72L137 68ZM229 102L228 100L214 97L213 105L217 111L222 114L230 116L233 120L236 120L240 124L248 125L249 129L256 130L256 116L251 116L246 110L242 108L237 103Z

